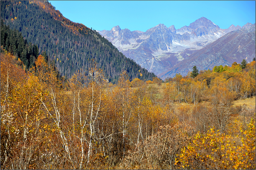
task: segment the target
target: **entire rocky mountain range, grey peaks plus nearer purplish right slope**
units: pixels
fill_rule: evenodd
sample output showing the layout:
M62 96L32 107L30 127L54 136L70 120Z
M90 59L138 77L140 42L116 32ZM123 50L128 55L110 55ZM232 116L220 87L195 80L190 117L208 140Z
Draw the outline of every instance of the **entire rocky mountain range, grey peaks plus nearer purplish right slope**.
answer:
M177 73L187 75L195 65L199 70L212 69L255 57L255 23L221 29L202 17L177 30L174 25L159 24L141 32L117 25L97 32L126 57L163 79Z

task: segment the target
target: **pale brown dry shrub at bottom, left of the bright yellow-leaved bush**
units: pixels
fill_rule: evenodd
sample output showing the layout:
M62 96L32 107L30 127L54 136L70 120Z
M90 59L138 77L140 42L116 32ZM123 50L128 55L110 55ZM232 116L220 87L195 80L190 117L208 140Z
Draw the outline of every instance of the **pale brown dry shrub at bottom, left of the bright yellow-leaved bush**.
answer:
M177 169L175 158L188 145L193 130L185 124L160 126L148 137L141 151L128 151L120 169Z

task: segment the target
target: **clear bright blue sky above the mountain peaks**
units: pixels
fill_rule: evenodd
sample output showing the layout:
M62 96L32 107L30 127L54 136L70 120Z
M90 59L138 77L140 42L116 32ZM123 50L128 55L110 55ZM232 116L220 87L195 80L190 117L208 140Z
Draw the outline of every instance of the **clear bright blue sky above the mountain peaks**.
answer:
M205 17L222 29L255 23L255 1L49 1L64 17L95 30L176 29Z

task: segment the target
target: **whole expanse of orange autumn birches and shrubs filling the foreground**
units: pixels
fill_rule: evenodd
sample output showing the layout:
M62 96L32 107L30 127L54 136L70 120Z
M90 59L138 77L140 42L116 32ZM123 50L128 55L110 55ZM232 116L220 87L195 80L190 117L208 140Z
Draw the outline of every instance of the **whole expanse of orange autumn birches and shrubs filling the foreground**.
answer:
M113 86L96 65L64 82L42 55L32 74L13 59L1 53L3 169L255 168L255 107L232 105L255 63L160 86L124 71Z

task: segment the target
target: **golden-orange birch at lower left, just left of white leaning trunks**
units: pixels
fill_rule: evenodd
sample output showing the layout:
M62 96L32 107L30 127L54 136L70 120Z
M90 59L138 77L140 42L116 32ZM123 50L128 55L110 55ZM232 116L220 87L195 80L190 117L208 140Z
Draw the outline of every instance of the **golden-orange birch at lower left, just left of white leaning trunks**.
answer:
M2 64L1 64L2 68ZM12 123L2 124L4 118L2 117L1 109L1 131L3 126L5 126L6 131L8 131L9 137L3 137L1 132L1 143L3 140L6 141L5 151L16 152L16 154L11 154L10 158L12 160L19 160L23 158L20 165L13 164L15 168L26 168L26 155L30 154L32 158L34 155L34 146L38 145L38 131L39 124L42 119L44 119L43 112L40 109L40 101L38 98L38 79L34 79L34 76L30 75L29 79L19 79L20 82L16 82L16 85L12 89L12 94L10 95L8 101L8 107L6 107L6 113L11 113ZM2 78L1 78L2 83ZM1 103L2 105L2 103ZM2 108L3 106L1 106ZM3 119L2 119L3 118ZM11 120L8 118L8 120ZM8 155L6 155L8 156ZM6 157L7 158L7 157Z

